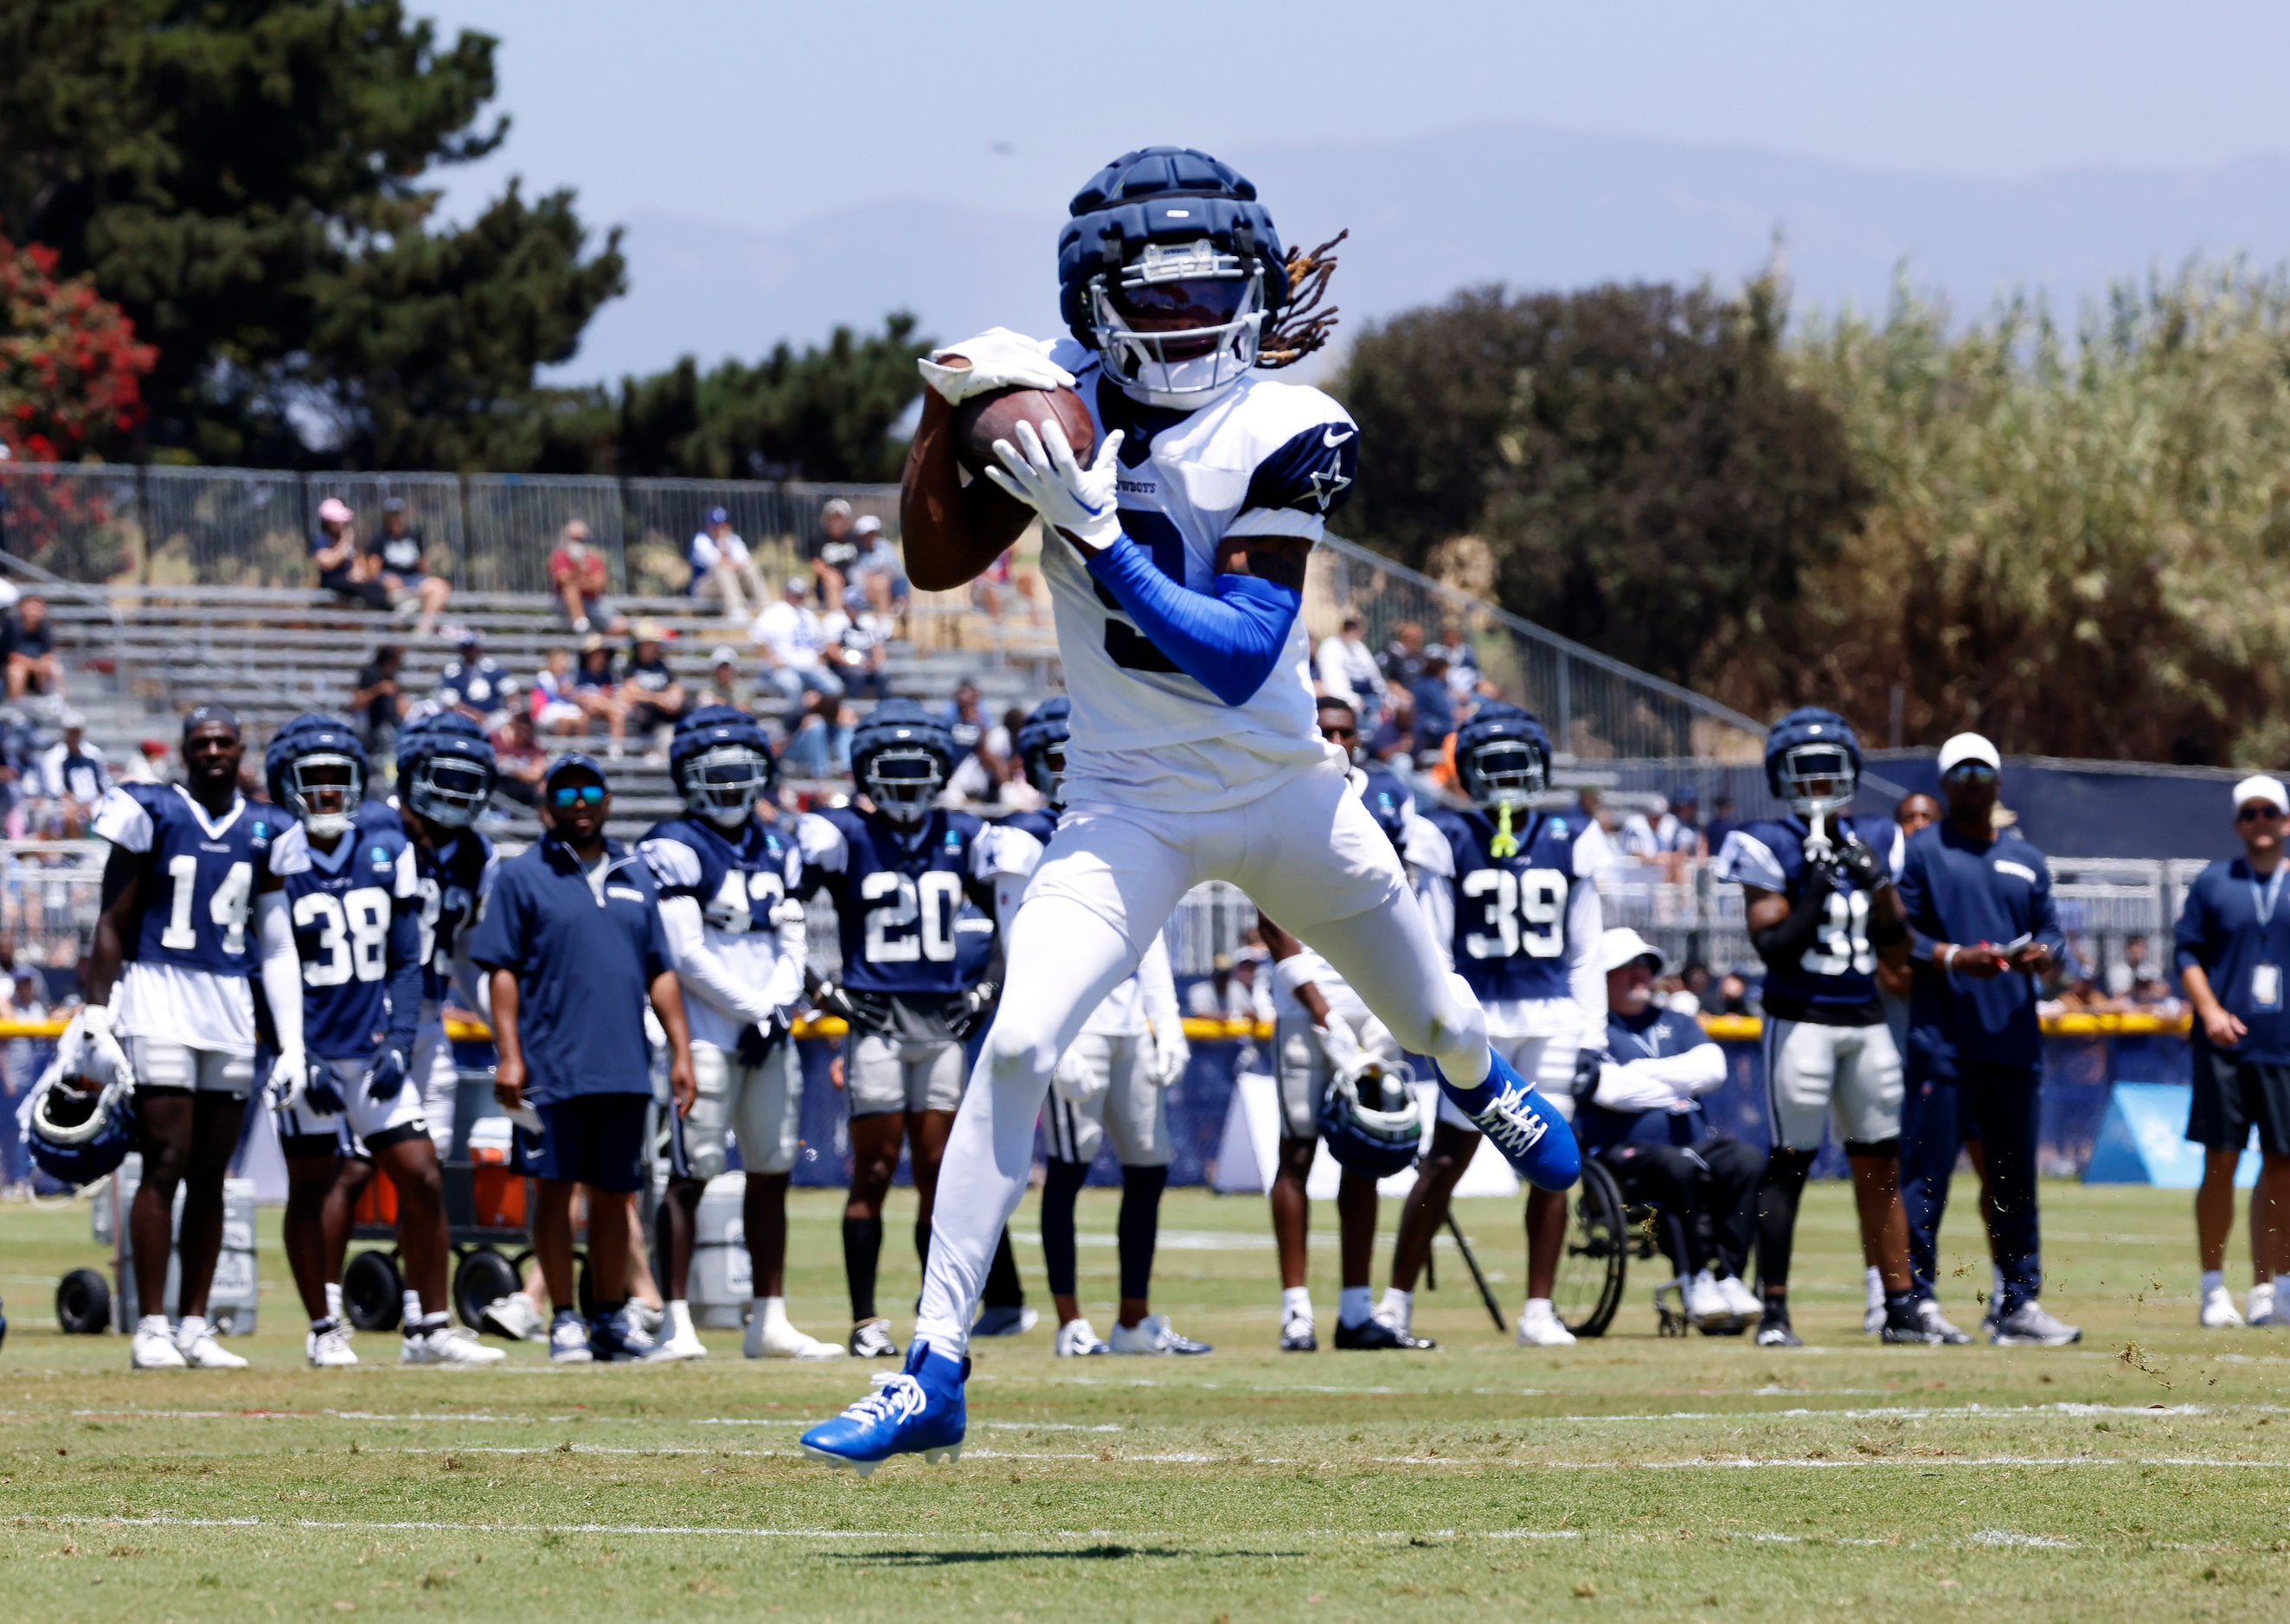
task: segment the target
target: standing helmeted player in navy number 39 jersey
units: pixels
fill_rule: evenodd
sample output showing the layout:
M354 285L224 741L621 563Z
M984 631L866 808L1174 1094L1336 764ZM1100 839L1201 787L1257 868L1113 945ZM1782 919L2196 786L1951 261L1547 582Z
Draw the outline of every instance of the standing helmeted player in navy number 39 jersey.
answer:
M1486 1006L1498 1049L1546 1090L1569 1122L1576 1095L1596 1088L1605 1063L1605 967L1598 937L1596 822L1532 811L1550 783L1550 738L1518 705L1486 703L1454 735L1454 767L1470 811L1436 806L1408 841L1424 914L1440 951ZM1573 1129L1557 1127L1573 1141ZM1415 1276L1431 1258L1431 1237L1447 1221L1447 1198L1479 1150L1479 1129L1440 1099L1392 1248L1392 1287L1376 1315L1406 1333L1415 1312ZM1566 1198L1527 1191L1527 1306L1518 1315L1523 1347L1573 1342L1550 1306L1566 1241Z

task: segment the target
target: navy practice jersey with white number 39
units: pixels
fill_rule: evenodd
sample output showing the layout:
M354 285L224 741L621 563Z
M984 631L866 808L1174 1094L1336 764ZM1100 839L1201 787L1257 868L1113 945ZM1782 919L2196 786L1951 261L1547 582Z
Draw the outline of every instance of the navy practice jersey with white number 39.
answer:
M1436 806L1422 813L1429 843L1408 857L1431 884L1452 886L1454 969L1479 999L1566 999L1566 905L1576 884L1576 841L1585 825L1527 813L1511 834L1518 850L1493 857L1495 822L1477 809ZM1422 861L1429 857L1431 861Z

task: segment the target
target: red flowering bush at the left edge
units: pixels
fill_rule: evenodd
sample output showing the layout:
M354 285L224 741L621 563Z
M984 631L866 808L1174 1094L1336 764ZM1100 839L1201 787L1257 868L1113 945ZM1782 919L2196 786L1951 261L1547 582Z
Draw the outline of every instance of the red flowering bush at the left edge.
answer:
M158 350L96 293L57 282L55 250L0 238L0 442L25 463L78 463L142 421Z

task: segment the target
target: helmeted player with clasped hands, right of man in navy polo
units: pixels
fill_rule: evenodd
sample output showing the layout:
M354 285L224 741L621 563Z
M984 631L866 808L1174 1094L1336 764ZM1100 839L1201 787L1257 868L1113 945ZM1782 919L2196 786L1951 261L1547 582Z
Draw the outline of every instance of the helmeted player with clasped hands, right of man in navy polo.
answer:
M744 712L703 705L676 726L669 774L689 811L653 825L641 850L660 882L660 923L685 985L701 1093L687 1115L669 1115L669 1335L653 1358L708 1356L685 1290L701 1193L724 1170L726 1129L740 1136L747 1170L753 1303L744 1351L838 1358L838 1345L788 1324L788 1175L804 1127L804 1070L788 1031L804 996L804 939L783 930L802 880L795 845L756 820L772 793L772 744Z

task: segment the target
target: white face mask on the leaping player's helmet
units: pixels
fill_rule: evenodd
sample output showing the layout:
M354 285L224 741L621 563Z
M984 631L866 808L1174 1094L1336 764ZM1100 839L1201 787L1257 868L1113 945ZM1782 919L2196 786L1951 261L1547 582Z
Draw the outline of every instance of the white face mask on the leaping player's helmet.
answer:
M1106 376L1124 394L1191 410L1257 364L1264 273L1209 238L1147 243L1120 277L1090 279L1088 316Z

